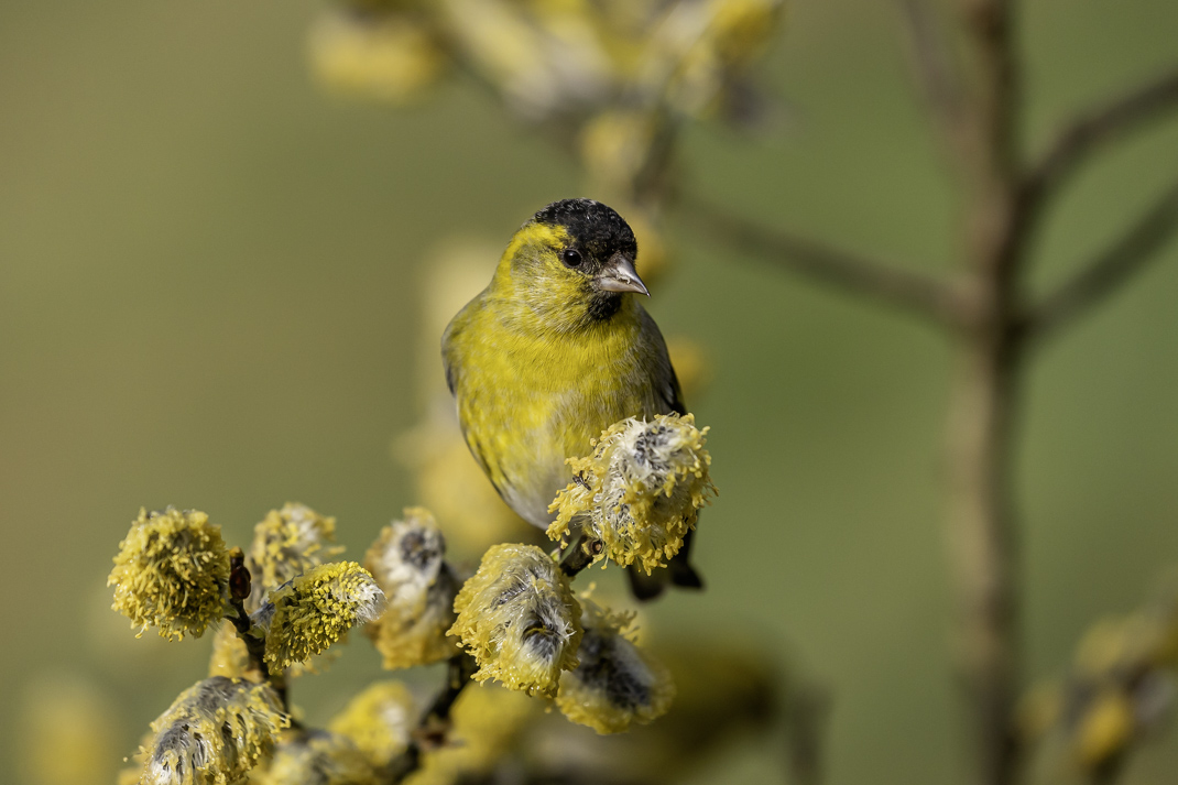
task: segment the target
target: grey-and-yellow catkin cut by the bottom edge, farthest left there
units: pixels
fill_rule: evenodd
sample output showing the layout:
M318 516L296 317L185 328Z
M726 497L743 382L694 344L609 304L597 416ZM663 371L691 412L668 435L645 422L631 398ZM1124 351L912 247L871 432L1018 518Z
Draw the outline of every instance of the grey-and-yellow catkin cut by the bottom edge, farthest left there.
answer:
M213 677L180 693L152 723L143 785L231 785L290 724L269 684Z

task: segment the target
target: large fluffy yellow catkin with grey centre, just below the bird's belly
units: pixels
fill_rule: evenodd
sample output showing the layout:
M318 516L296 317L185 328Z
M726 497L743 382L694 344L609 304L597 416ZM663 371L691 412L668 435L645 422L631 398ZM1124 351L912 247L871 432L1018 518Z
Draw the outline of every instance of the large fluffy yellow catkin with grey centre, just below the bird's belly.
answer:
M478 681L551 697L561 671L577 665L581 606L568 576L536 546L492 546L454 609L450 634L474 655Z

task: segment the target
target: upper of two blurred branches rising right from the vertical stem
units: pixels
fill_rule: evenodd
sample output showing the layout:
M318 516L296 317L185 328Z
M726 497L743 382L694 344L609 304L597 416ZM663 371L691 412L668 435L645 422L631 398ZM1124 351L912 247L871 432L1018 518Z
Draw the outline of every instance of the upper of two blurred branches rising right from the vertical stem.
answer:
M1026 176L1024 198L1037 205L1057 191L1100 146L1138 131L1178 110L1178 68L1101 106L1083 112L1066 127Z

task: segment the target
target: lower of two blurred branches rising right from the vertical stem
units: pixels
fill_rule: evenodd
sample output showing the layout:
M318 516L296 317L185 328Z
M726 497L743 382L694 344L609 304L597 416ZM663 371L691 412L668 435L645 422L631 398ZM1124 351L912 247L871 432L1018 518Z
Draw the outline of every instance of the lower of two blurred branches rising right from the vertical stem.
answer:
M1178 180L1076 277L1030 309L1017 329L1039 339L1079 318L1156 259L1176 231Z

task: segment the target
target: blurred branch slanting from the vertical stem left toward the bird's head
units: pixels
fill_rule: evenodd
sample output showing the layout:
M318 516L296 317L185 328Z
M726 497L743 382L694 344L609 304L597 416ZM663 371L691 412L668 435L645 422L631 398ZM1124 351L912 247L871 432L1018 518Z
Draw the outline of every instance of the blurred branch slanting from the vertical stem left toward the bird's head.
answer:
M760 257L788 272L846 293L907 310L935 323L955 325L964 319L964 298L951 283L759 226L690 198L682 198L679 206L697 229L712 235L726 248Z

